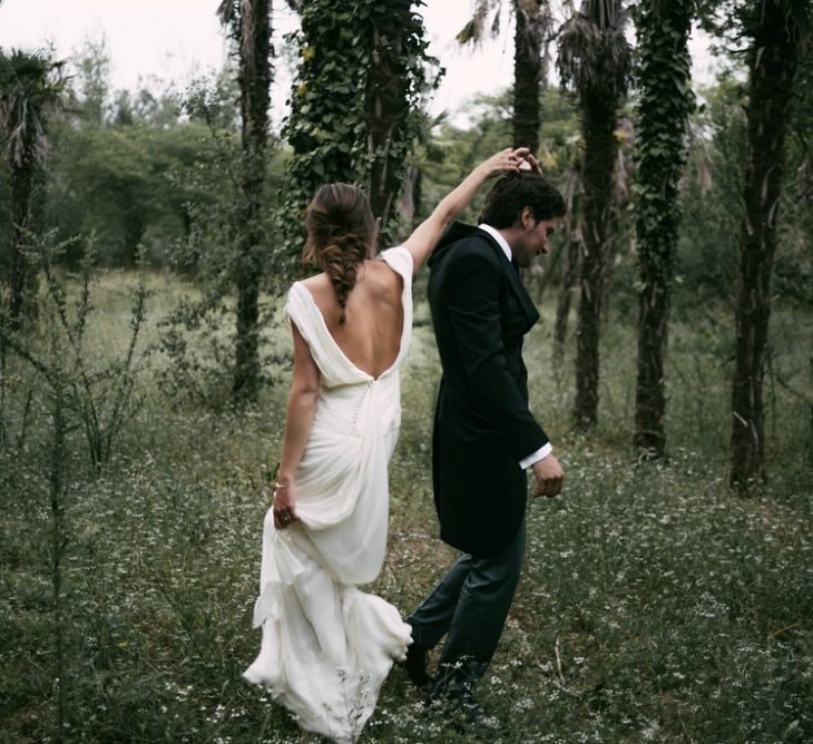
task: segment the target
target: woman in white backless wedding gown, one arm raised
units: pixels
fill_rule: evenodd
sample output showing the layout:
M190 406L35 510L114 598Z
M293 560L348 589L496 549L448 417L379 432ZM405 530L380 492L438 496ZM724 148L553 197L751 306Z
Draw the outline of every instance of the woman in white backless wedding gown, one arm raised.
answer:
M411 643L398 610L355 585L375 579L384 560L412 277L486 179L518 170L527 154L505 149L481 163L403 245L375 258L360 189L330 184L310 205L304 257L323 272L296 282L285 304L293 382L263 531L262 645L244 673L305 732L354 742Z

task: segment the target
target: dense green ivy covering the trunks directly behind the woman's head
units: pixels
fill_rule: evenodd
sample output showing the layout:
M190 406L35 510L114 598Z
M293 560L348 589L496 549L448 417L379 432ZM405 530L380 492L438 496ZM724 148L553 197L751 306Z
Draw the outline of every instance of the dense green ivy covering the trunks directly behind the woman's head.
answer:
M285 253L302 249L302 217L316 188L354 183L368 194L398 189L419 131L429 87L423 20L411 0L305 0L301 30L286 37L300 53L283 128L294 150L282 211ZM385 179L385 184L382 179ZM382 243L392 232L389 198L374 199ZM375 209L375 204L386 205Z

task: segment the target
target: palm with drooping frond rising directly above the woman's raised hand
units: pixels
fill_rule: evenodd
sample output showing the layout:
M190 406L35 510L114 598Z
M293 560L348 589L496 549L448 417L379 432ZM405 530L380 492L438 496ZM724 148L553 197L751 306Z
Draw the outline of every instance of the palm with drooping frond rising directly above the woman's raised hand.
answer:
M539 150L540 86L546 82L546 33L550 27L549 3L543 0L511 0L513 33L513 146ZM489 16L493 12L491 22ZM460 43L477 43L487 33L497 36L502 0L477 0L471 19L458 33Z

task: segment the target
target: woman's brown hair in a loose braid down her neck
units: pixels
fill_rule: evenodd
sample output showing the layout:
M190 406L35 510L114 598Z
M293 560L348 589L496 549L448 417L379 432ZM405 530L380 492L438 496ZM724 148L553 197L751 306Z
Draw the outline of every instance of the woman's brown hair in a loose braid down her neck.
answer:
M375 218L364 193L351 184L327 184L313 197L305 216L307 239L302 258L319 264L330 276L342 307L344 323L347 295L355 286L356 272L372 257Z

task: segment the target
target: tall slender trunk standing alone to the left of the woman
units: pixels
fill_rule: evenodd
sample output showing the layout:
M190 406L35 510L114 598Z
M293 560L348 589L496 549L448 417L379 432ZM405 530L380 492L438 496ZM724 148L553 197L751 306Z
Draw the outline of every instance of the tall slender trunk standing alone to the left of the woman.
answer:
M270 0L244 0L239 10L239 89L242 115L243 208L238 255L237 341L234 394L253 400L259 384L258 319L263 267L261 209L265 185L271 69Z

